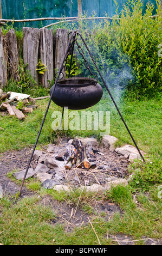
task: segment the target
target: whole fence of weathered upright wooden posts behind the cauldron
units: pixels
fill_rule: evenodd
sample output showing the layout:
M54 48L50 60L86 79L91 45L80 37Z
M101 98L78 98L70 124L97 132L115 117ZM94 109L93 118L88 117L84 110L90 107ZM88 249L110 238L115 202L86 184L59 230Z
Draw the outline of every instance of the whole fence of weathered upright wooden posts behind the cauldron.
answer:
M60 69L68 44L68 34L68 29L56 29L54 35L53 29L23 28L23 62L37 84L46 88L50 86L49 81L54 78L54 70ZM10 29L4 36L0 28L0 59L0 87L7 86L9 77L19 81L20 56L14 29ZM44 75L36 71L38 59L47 66Z

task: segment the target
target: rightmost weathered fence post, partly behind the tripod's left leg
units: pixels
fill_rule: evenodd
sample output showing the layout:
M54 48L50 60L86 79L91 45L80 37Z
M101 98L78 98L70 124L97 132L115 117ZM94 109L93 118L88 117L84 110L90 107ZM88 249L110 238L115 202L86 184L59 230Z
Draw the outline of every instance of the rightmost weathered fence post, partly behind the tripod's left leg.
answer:
M66 49L68 45L68 33L69 33L68 29L61 29L61 28L56 29L55 72L59 71L64 54L66 53ZM63 69L62 73L65 78L66 70Z

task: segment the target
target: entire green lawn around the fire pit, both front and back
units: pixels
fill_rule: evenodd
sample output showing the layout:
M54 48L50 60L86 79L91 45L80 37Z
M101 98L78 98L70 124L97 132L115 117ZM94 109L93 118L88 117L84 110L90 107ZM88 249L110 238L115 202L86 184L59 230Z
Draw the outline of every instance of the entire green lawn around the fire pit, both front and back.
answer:
M105 221L104 216L90 211L93 209L94 194L79 191L59 194L52 190L45 191L40 184L29 181L27 186L35 191L35 197L0 199L0 242L4 245L118 245L111 237L116 234L131 236L135 245L144 245L145 237L161 239L161 199L158 197L158 186L161 184L161 103L160 97L141 101L125 99L119 103L135 141L151 161L132 164L130 172L141 168L141 173L140 176L136 173L128 187L118 186L98 195L98 200L118 204L124 212L122 215L116 212L109 221ZM35 143L47 104L48 99L38 101L39 107L23 121L0 115L0 127L4 129L0 130L1 153ZM96 131L53 131L51 115L54 110L61 111L61 108L51 102L37 147L53 143L57 136L96 136L100 139ZM110 111L110 134L119 139L116 146L133 144L107 94L89 110ZM76 227L70 233L65 232L63 225L54 225L52 221L57 218L55 209L41 204L46 194L69 205L77 205L92 217L93 224L89 222L88 225Z

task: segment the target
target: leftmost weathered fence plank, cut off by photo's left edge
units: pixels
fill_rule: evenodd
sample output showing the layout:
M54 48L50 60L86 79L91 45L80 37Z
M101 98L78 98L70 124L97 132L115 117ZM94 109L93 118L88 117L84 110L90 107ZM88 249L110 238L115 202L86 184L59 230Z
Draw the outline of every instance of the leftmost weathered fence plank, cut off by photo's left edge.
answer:
M7 52L2 28L0 28L0 85L1 87L7 85Z

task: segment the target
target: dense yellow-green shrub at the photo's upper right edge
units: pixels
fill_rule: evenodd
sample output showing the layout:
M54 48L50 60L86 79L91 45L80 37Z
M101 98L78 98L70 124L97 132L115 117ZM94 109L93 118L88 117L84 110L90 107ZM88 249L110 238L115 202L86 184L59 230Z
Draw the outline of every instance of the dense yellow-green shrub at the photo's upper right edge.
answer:
M125 6L120 26L116 26L119 45L129 56L129 65L133 66L135 83L130 85L132 89L136 86L140 95L152 95L161 90L162 59L158 56L158 45L162 42L160 4L157 9L159 16L153 19L152 13L153 5L147 4L142 16L142 3L134 1L132 7Z

